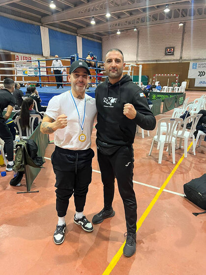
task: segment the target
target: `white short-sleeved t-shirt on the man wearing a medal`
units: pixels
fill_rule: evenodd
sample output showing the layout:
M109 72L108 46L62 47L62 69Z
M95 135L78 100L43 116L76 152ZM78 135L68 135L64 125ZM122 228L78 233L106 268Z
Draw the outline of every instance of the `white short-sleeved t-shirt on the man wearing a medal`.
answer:
M48 103L46 114L57 120L61 114L67 116L67 126L63 129L55 131L55 145L70 150L86 150L91 146L91 133L93 130L94 117L96 115L95 99L85 94L86 98L86 115L83 134L86 135L84 142L79 140L82 129L79 122L79 116L75 104L73 102L71 91L67 91L58 96L54 96ZM74 97L77 105L81 123L84 117L85 99L77 99Z

